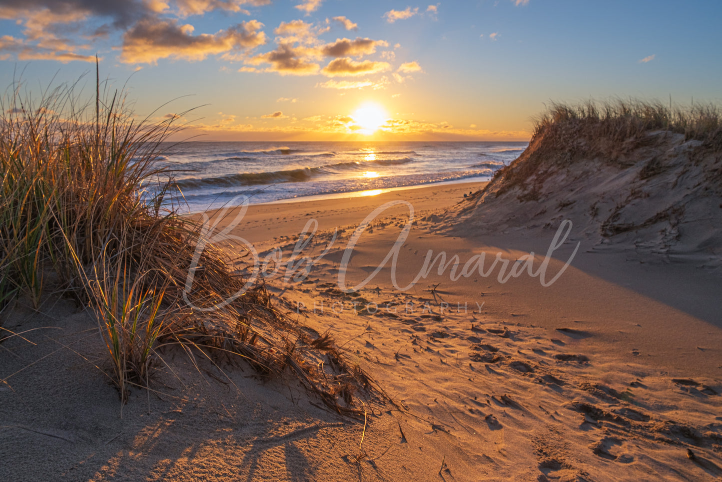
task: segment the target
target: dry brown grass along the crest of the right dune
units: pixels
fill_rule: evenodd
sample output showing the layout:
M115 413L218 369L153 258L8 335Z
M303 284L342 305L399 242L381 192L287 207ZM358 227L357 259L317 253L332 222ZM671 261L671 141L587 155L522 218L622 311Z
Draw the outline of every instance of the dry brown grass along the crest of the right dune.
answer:
M706 152L722 152L722 109L714 104L682 108L633 99L554 102L533 120L529 147L518 160L496 171L484 191L493 189L498 196L531 178L539 184L549 169L578 160L622 168L632 165L631 152L659 142L651 134L679 134L684 140L699 141ZM533 199L534 192L524 199Z

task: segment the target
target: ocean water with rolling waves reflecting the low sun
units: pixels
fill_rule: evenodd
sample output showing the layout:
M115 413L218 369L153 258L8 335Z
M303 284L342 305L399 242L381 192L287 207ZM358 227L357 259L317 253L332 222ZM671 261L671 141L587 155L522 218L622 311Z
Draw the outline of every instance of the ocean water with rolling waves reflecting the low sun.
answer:
M528 142L187 142L166 158L174 203L197 212L449 181L487 181Z

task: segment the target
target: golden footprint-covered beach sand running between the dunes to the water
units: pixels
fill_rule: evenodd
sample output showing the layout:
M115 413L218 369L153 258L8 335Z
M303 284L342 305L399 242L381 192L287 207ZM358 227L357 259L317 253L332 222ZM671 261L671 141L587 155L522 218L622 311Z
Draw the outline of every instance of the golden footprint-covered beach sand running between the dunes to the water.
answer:
M494 234L461 225L449 233L445 213L481 187L252 205L242 219L238 210L222 214L218 226L259 259L282 249L284 264L265 279L279 310L309 332L328 331L386 392L390 400L357 397L367 413L361 420L324 410L290 376L263 379L243 362L173 346L162 350L152 391L133 390L121 406L90 315L53 296L38 311L18 302L4 327L22 337L0 345L0 478L718 480L719 274L693 259L595 250L573 227L543 264L562 223ZM387 202L398 203L347 251L360 223ZM311 263L288 270L309 220L318 228L296 259ZM453 279L454 259L419 277L429 251L430 259L445 253L446 262L458 256L456 275L486 252L484 275ZM393 252L396 259L357 291L339 289L344 260L341 287L350 288ZM516 274L504 283L502 259ZM547 282L560 275L543 286L541 272Z

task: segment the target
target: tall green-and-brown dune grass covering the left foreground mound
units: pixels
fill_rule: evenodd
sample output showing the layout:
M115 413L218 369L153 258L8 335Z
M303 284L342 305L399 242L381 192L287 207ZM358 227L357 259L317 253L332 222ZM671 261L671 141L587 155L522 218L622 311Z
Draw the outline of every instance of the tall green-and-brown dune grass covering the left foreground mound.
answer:
M100 87L86 103L76 85L38 102L14 87L1 101L0 310L17 298L37 307L56 273L95 314L123 401L149 386L158 348L177 344L289 371L330 408L359 413L348 394L368 386L365 374L279 314L263 285L244 289L238 254L206 244L206 226L163 207L173 169L159 160L177 117L137 118ZM339 373L314 368L329 357L342 387Z

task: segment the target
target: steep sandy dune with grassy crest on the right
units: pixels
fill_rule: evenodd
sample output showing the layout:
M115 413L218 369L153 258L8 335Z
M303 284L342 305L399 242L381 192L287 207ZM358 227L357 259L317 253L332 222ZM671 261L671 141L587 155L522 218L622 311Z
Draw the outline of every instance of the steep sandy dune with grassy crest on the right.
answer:
M644 111L627 119L620 112L630 106L616 107L619 112L608 119L593 106L579 107L576 115L573 108L555 106L537 122L529 148L445 221L492 233L556 228L570 219L575 233L597 249L630 249L667 260L692 255L719 267L722 146L716 111L697 113L707 116L709 126L695 130L687 119L684 131L682 121L664 119L673 113L664 107L656 106L660 119L646 123Z

